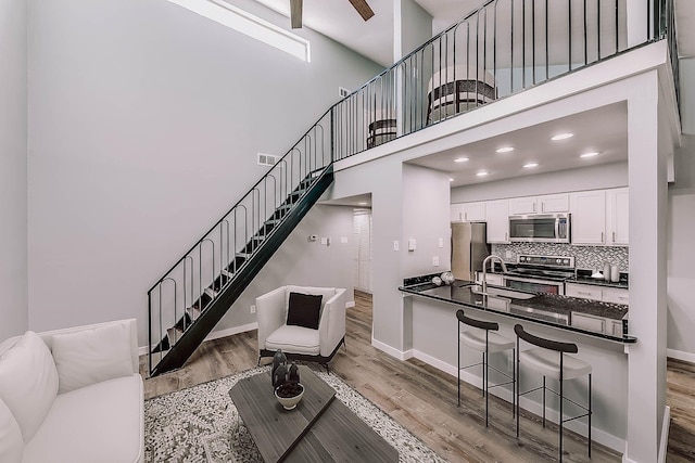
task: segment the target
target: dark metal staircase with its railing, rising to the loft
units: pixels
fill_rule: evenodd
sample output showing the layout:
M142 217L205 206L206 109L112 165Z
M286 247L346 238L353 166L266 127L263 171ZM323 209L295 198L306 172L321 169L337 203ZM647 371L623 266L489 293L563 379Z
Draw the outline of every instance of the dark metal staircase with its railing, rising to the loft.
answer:
M181 368L333 182L323 125L286 154L148 292L149 371Z

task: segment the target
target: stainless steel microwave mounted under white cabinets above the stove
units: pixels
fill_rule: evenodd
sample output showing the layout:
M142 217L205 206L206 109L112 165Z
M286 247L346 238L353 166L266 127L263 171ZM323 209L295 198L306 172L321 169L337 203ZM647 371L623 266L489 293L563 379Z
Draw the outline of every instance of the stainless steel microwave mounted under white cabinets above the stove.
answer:
M569 243L570 215L509 216L509 241L517 243Z

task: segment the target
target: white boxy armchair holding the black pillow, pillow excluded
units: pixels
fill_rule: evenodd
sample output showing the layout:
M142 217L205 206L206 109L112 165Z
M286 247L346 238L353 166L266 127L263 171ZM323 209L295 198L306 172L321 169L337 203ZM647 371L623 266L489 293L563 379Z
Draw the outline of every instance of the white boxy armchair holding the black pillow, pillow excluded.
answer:
M287 324L290 293L320 295L318 329ZM345 345L345 290L338 287L281 286L256 298L258 364L278 349L288 359L309 360L328 368L338 348Z

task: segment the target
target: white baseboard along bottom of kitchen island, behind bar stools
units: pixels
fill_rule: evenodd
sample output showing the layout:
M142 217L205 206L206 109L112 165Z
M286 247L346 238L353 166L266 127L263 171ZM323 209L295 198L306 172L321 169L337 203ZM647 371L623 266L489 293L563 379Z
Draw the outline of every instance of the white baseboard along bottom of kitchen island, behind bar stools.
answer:
M431 357L427 353L420 352L419 350L413 350L413 357L415 357L418 360L424 361L425 363L428 363L441 371L443 371L444 373L448 373L453 376L454 382L456 382L456 370L457 366L456 365L450 365L446 362L443 362L434 357ZM492 374L491 374L492 377ZM463 371L460 373L460 378L462 381L465 381L466 383L475 386L475 387L480 387L481 385L481 377L470 373L468 371ZM506 400L507 402L509 402L509 404L511 404L513 402L513 391L511 389L507 389L505 387L496 387L494 389L490 390L490 394L500 397L503 400ZM521 397L520 401L519 401L519 406L525 409L530 411L531 413L534 413L536 415L542 415L543 414L543 406L534 400L531 400L528 397ZM558 416L559 413L555 410L551 410L548 409L546 411L546 415L545 415L549 421L552 421L553 423L557 423L558 421ZM586 436L586 423L580 422L580 421L573 421L573 422L569 422L567 424L565 424L565 427L567 429L570 429L581 436ZM614 436L612 434L608 434L605 430L602 429L597 429L595 427L592 427L591 430L591 437L592 440L594 442L598 442L601 445L604 445L617 452L622 453L624 451L626 448L626 441L617 436Z

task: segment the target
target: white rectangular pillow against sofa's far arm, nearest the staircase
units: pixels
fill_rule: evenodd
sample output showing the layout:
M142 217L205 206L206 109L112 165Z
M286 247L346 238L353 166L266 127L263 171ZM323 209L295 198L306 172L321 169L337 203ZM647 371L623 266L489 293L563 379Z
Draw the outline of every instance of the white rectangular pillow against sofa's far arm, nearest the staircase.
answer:
M122 376L130 376L130 331L109 324L53 336L59 394Z

